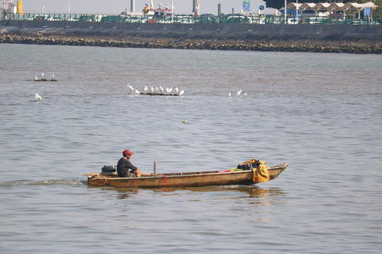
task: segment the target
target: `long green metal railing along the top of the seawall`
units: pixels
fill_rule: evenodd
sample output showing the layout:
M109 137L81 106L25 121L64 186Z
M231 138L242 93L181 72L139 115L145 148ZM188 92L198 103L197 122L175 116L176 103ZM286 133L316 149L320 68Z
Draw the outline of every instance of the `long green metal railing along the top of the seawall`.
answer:
M8 13L7 20L66 20L107 23L245 23L245 24L342 24L342 25L381 25L382 21L371 22L355 18L298 18L294 16L123 16L103 14L68 13Z

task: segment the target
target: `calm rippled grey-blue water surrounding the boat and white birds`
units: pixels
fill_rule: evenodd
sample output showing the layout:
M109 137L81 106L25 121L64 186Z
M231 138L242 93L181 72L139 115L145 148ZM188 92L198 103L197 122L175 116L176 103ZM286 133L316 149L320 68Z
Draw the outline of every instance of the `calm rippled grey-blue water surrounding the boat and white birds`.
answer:
M1 253L380 252L382 56L0 52ZM41 73L58 82L34 82ZM185 95L129 95L127 83ZM290 166L254 186L87 186L83 173L125 149L144 172Z

